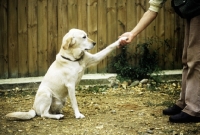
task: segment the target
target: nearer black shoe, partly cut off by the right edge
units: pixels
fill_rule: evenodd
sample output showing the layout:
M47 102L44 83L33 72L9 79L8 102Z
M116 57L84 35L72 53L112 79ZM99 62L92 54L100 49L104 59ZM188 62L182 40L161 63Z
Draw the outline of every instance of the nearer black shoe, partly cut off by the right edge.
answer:
M169 117L170 122L174 123L189 123L189 122L200 122L200 117L191 116L185 112L176 114L174 116Z

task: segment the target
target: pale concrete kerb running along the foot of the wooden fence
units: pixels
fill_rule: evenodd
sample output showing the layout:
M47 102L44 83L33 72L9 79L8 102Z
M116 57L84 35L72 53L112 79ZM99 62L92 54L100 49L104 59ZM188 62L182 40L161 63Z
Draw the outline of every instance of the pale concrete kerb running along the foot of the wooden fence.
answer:
M181 70L164 70L158 75L163 81L166 80L181 80ZM117 74L85 74L80 82L80 85L95 85L95 84L109 84L109 78L115 78ZM0 90L12 90L12 89L37 89L43 76L40 77L27 77L27 78L10 78L0 79Z

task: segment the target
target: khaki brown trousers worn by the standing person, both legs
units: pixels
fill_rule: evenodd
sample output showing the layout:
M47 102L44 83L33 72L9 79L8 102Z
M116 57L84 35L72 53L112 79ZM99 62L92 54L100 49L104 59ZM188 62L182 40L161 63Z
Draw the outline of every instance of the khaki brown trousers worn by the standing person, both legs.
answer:
M182 91L176 104L200 117L200 16L186 21L182 62Z

